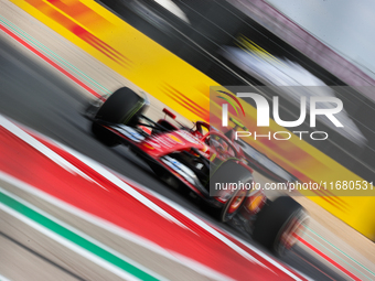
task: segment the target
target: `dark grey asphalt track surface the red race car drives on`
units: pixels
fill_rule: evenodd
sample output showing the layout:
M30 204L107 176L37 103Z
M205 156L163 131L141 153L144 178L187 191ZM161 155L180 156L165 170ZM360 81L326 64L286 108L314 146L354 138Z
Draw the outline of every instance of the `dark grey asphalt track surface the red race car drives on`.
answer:
M77 150L135 182L162 194L217 227L256 245L250 238L232 229L231 226L218 224L202 212L194 202L165 186L127 148L110 149L94 139L89 131L89 121L82 116L82 111L87 105L87 98L77 90L77 86L41 60L20 53L2 37L0 37L0 98L1 115ZM97 204L100 205L100 202ZM2 244L17 241L8 236L3 236L1 239L4 240ZM42 258L38 257L36 259ZM343 280L341 275L330 269L329 264L318 261L300 247L296 247L281 260L314 280ZM79 277L74 278L78 279Z

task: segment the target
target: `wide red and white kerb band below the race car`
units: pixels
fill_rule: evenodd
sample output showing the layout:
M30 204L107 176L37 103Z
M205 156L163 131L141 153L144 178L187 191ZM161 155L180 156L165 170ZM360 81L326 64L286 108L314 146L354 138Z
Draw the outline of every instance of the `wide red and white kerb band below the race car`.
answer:
M195 215L189 212L180 212L175 206L171 207L150 193L146 195L146 191L127 184L105 167L94 164L93 161L77 159L61 145L54 144L35 133L30 136L4 118L1 118L0 121L0 125L3 126L0 145L1 155L6 159L12 159L12 162L17 163L17 166L14 166L13 164L9 165L9 161L8 164L0 161L0 170L6 173L146 239L153 240L163 248L172 249L197 262L213 267L215 270L229 275L229 278L240 279L244 274L251 274L258 280L269 280L276 277L283 280L303 280L297 273L287 270L277 262L265 259L265 255L256 253L244 247L235 237L222 234ZM17 133L22 140L8 130ZM20 131L23 131L23 133L20 133ZM30 145L38 148L39 151ZM51 161L51 154L49 159L45 158L44 150L53 150L53 153L64 158L75 167L79 167L82 173L89 175L95 182L62 169L61 165ZM41 151L43 154L40 153ZM55 159L56 155L52 159ZM25 165L24 170L29 170L31 173L22 173L20 163ZM14 170L14 167L17 169ZM96 183L105 186L108 191L98 187ZM83 197L82 194L85 194L85 196ZM151 197L153 198L151 199ZM100 205L97 204L98 201L100 201ZM161 210L168 212L167 214L170 217L184 221L193 233L160 216L159 213L152 212L148 205L158 206ZM110 209L100 206L110 206ZM126 212L126 209L131 209L131 212ZM178 236L179 240L170 239L170 236ZM227 267L219 264L227 264Z

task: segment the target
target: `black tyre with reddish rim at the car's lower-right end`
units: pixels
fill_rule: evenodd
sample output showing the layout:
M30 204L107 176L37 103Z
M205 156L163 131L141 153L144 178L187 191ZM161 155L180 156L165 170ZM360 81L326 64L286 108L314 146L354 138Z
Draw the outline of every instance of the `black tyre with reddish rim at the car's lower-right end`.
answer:
M269 202L254 224L253 238L275 253L293 247L297 233L308 220L304 208L289 196Z

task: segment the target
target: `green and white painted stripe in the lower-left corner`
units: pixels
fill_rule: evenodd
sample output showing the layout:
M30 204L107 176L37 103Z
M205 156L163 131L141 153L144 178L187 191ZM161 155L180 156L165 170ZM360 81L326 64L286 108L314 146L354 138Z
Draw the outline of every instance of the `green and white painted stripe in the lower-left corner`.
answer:
M0 209L126 280L157 280L133 261L0 187ZM128 272L130 273L128 273ZM159 280L162 280L159 278Z

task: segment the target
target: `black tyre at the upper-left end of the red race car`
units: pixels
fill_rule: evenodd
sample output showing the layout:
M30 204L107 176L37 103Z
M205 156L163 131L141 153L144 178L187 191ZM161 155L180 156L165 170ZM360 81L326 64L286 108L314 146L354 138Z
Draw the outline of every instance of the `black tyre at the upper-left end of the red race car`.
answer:
M119 138L103 127L100 121L108 123L124 123L132 126L137 123L139 115L143 111L144 99L129 88L117 89L101 105L93 122L92 132L104 144L114 147L119 144Z

